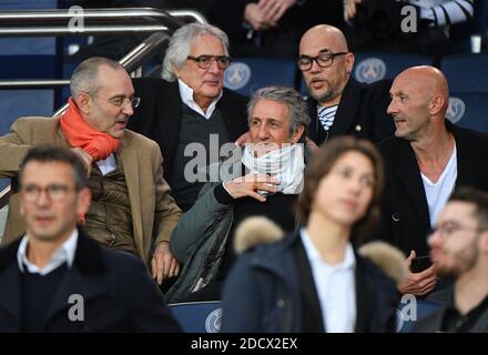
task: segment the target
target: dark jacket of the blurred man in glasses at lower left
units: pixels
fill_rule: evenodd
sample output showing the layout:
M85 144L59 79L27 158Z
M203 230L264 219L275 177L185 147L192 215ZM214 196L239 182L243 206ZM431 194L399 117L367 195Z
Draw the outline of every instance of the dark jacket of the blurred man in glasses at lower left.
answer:
M0 333L21 331L20 240L0 248ZM72 294L83 297L84 321L71 322ZM42 332L180 332L143 263L96 244L80 230L71 268L48 306Z

